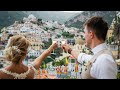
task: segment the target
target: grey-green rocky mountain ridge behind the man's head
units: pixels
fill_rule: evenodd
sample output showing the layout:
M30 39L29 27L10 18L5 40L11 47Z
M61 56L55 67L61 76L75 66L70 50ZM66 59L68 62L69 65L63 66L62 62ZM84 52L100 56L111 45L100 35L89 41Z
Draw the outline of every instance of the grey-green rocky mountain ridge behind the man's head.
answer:
M84 11L69 21L65 22L68 27L82 28L84 22L92 16L102 16L110 25L116 11Z

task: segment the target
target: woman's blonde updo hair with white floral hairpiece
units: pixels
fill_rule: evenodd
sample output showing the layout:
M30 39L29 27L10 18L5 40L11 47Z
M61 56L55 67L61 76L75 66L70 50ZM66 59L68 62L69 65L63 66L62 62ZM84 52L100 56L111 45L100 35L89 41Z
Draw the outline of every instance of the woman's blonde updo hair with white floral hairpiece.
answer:
M4 55L8 61L17 64L26 56L29 45L29 41L24 36L12 36L5 47Z

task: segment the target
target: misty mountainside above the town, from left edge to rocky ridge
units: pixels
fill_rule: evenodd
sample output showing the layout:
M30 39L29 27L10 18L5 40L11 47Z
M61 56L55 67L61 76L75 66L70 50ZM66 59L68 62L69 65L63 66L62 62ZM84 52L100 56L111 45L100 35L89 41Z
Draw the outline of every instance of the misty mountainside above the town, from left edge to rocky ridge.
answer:
M62 24L75 15L60 11L0 11L0 29L12 25L15 21L21 21L30 14L45 21L54 20Z

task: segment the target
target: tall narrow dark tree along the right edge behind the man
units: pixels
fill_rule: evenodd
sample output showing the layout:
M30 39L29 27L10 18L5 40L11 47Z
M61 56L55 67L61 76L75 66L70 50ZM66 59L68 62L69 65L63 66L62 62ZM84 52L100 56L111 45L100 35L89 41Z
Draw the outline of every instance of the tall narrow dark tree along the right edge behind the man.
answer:
M120 58L120 12L116 12L115 19L114 19L114 39L118 44L118 59Z

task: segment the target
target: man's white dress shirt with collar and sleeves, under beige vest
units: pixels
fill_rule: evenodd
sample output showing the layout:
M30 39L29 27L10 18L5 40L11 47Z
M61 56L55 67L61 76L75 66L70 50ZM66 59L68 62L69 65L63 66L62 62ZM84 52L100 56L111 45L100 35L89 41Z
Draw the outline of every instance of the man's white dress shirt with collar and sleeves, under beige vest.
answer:
M106 43L102 43L92 49L94 54L98 53L103 49L108 49ZM80 53L78 56L78 62L88 62L92 58L92 55ZM90 70L90 75L96 79L116 79L117 78L117 64L113 57L109 54L101 54L98 56L96 61Z

